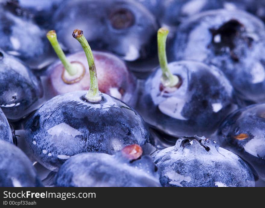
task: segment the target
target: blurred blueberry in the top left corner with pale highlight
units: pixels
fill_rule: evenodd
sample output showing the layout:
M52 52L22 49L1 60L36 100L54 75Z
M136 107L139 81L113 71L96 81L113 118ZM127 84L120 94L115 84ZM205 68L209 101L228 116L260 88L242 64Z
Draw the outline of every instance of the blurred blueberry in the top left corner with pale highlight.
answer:
M48 47L42 30L26 14L17 4L0 3L0 47L34 67Z

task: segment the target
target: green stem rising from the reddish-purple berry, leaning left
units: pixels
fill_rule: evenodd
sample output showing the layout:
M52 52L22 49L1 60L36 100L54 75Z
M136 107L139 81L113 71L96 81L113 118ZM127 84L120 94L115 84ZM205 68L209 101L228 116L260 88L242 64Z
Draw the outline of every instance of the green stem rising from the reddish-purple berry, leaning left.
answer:
M58 43L55 30L50 30L49 32L47 32L46 36L48 40L50 41L51 46L55 50L55 53L57 54L62 64L64 65L65 70L71 76L75 75L77 73L77 70L72 66L72 64L67 60L66 56L64 55L64 52Z

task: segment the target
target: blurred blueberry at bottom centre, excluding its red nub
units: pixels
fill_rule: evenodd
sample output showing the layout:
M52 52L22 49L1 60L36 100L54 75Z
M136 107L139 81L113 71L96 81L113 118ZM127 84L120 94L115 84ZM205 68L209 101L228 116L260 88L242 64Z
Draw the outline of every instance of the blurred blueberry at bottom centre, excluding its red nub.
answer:
M149 156L136 161L104 153L82 153L67 160L56 173L60 187L159 187L160 171Z

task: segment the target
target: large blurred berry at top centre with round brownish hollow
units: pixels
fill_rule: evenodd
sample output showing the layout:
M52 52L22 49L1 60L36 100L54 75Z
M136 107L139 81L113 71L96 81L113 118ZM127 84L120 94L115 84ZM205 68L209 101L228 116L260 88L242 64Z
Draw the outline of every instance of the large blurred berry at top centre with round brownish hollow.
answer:
M111 51L126 61L148 57L155 50L156 20L141 4L131 1L67 1L55 13L53 23L70 51L80 50L69 35L78 27L94 50Z

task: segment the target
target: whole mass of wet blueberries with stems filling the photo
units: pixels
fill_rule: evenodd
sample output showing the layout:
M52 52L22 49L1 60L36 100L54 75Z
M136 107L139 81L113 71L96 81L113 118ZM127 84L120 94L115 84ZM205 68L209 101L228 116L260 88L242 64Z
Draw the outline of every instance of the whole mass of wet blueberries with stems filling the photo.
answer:
M265 185L264 22L255 0L0 1L0 186Z

